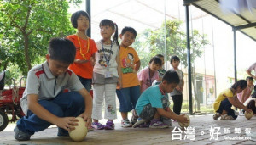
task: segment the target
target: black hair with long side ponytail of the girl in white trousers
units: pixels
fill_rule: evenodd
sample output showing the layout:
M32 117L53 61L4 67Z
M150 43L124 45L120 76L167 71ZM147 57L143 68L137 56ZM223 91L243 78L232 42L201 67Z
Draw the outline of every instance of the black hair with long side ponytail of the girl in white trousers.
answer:
M118 28L118 25L113 23L112 20L105 19L105 20L102 20L100 22L99 26L101 27L101 26L106 26L106 25L110 26L113 30L115 30L115 33L113 35L113 43L116 43L120 47L120 45L119 45L119 28Z

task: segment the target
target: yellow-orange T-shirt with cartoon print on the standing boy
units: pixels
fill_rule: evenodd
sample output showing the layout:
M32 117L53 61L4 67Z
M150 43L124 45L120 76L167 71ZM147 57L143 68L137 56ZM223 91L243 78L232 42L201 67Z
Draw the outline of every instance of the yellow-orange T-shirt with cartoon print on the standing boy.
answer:
M119 51L121 70L122 70L122 86L123 88L131 86L139 86L137 79L135 64L140 61L136 51L132 47L120 47Z

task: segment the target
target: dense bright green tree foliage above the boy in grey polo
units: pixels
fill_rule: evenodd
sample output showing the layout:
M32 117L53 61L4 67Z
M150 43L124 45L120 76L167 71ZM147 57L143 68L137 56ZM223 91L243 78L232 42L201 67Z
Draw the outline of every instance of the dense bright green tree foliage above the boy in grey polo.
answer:
M70 25L69 3L81 0L5 0L0 3L0 70L17 64L23 75L34 64L42 63L49 39L67 36Z

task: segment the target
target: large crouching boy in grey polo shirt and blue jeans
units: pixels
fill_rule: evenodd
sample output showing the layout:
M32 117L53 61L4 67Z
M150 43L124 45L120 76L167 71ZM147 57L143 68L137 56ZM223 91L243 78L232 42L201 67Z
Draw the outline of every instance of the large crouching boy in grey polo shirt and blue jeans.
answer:
M26 90L20 99L20 106L26 114L18 120L15 139L29 140L37 131L49 125L58 126L58 136L68 136L68 131L78 125L77 116L91 124L92 99L89 92L73 71L76 50L73 42L63 38L53 38L49 42L46 62L34 66L27 75ZM68 88L70 92L63 92Z

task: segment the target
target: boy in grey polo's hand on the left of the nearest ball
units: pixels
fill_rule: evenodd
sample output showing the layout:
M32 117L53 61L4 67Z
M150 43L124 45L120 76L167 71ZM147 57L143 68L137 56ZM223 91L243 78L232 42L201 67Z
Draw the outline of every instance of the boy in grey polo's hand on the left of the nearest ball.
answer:
M67 131L72 131L75 129L75 125L78 125L79 120L75 119L74 117L64 117L64 118L58 118L58 120L56 121L57 123L55 125L57 125L58 127L61 127Z

